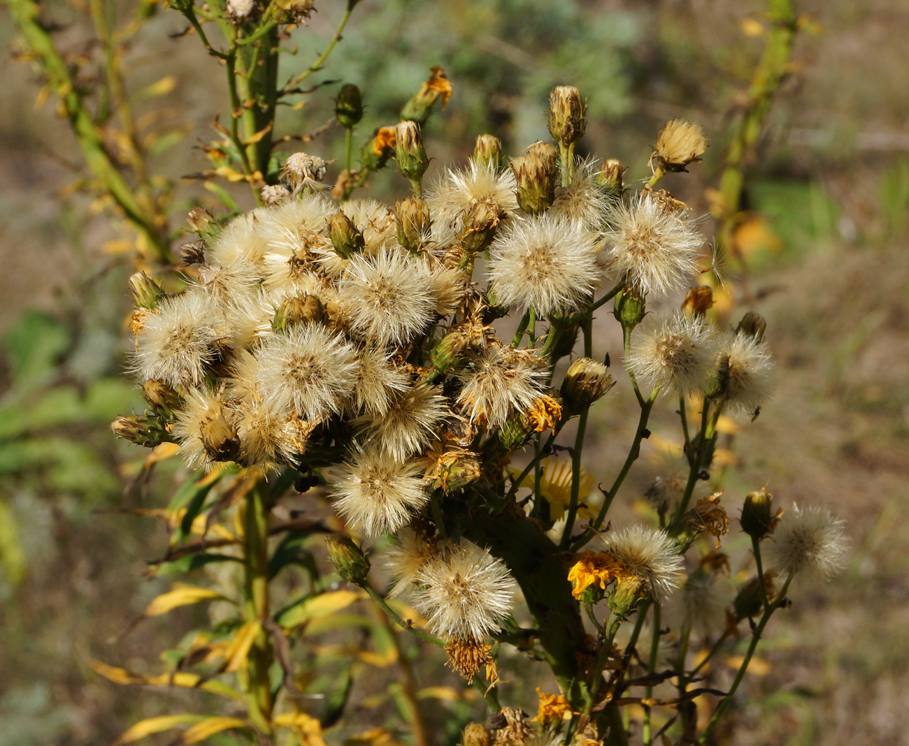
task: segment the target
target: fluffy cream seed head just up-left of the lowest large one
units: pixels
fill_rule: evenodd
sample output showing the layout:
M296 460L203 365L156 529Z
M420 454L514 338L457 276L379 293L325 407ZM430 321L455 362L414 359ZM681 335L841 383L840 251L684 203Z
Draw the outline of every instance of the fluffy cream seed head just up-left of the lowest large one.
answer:
M331 494L337 510L368 535L401 528L429 500L419 464L372 447L338 467Z

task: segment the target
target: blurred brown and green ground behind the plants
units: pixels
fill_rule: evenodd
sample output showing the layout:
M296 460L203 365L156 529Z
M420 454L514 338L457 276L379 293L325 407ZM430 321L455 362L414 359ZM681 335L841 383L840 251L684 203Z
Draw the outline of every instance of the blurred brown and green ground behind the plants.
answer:
M128 15L132 5L118 0L118 15L120 5ZM312 64L344 5L316 4L284 74ZM724 739L909 744L909 4L796 7L806 17L790 74L746 167L744 265L731 270L727 301L736 319L747 308L766 317L779 386L734 434L724 499L731 517L764 485L784 506L829 506L847 519L854 551L843 575L804 584L774 619L749 673L751 703ZM704 215L709 235L705 194L763 49L763 11L753 0L364 0L311 79L335 83L282 111L278 130L313 133L340 83L356 83L365 139L441 65L454 96L425 135L437 169L463 162L477 133L498 135L512 154L547 137L550 88L574 84L588 99L584 150L625 162L633 186L667 120L704 124L714 145L704 162L661 186ZM92 54L78 3L48 2L45 15L62 48ZM14 50L4 17L0 41ZM201 147L228 108L223 70L183 31L179 15L157 8L125 60L131 92L145 98L136 116L167 125L150 163L175 184L174 227L196 203L215 204L180 177L205 169ZM145 453L109 430L115 415L141 411L125 375L129 242L82 189L75 138L35 69L7 54L0 71L0 746L103 744L173 708L167 692L137 696L85 659L143 669L188 629L191 612L181 612L124 634L165 588L145 577L165 533L117 512L161 505L180 469L168 462L154 484L136 484ZM341 157L343 133L286 143L301 147ZM385 172L367 193L394 198L405 186ZM252 206L248 191L233 191ZM597 339L600 356L618 361L620 348ZM594 410L596 447L585 456L598 481L624 458L610 443L628 442L631 404L615 396ZM628 515L653 476L654 444L677 439L671 416L657 419L634 468Z

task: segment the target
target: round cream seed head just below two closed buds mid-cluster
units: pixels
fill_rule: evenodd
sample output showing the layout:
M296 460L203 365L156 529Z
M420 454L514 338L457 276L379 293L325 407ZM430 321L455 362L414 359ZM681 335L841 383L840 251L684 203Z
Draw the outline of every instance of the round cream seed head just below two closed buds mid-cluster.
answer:
M339 291L354 329L380 344L404 344L435 319L429 270L403 250L356 256Z

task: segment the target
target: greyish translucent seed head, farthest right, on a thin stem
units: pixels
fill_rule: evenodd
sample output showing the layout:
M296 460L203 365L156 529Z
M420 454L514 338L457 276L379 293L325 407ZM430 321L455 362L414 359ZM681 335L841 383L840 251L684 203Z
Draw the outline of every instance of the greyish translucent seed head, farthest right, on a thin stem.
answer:
M781 574L814 571L831 577L845 565L848 540L845 523L822 507L793 506L774 535L762 544L767 565Z

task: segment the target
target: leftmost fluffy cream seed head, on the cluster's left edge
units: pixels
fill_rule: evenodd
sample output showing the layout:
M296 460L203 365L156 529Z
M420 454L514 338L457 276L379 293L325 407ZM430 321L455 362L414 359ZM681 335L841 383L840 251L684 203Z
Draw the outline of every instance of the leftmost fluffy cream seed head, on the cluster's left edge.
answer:
M185 292L144 314L136 337L135 370L144 380L198 387L222 339L223 319L201 292Z

